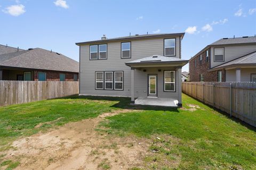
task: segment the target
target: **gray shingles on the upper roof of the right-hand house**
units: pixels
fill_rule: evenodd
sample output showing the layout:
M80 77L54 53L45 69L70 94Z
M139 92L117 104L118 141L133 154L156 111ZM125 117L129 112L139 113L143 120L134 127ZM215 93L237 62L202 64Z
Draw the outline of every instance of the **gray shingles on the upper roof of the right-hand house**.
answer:
M228 38L219 39L210 45L226 45L226 44L244 44L244 43L256 43L256 37L238 37L238 38Z

